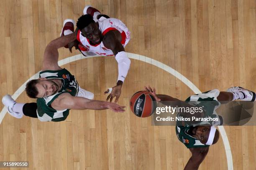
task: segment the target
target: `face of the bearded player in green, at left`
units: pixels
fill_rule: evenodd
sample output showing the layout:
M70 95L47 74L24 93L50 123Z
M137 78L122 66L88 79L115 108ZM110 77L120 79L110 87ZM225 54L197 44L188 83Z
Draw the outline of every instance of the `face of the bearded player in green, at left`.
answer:
M36 97L49 97L54 95L58 90L59 86L52 80L39 80L36 84L38 95Z

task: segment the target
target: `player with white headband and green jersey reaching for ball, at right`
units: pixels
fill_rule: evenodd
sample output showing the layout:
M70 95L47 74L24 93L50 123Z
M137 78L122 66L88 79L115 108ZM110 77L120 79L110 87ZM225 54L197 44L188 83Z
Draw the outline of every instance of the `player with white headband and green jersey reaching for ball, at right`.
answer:
M220 92L215 89L201 94L192 95L187 98L187 102L168 95L156 95L156 90L152 90L149 86L145 87L145 90L150 92L151 95L155 97L156 101L162 102L164 105L169 105L171 107L195 107L195 105L190 105L189 101L197 101L197 103L200 103L201 101L212 101L209 102L211 105L207 105L208 108L204 108L204 114L208 115L209 113L207 113L207 111L213 112L219 101L255 101L255 92L246 90L242 87L230 87L227 92ZM187 117L192 116L192 114L185 115L184 112L179 114ZM195 114L193 114L193 116L195 116ZM205 159L210 145L218 142L220 136L218 129L215 128L215 126L212 126L211 123L193 126L187 122L177 122L175 128L179 141L181 141L192 153L192 156L189 158L184 170L197 170L199 165Z

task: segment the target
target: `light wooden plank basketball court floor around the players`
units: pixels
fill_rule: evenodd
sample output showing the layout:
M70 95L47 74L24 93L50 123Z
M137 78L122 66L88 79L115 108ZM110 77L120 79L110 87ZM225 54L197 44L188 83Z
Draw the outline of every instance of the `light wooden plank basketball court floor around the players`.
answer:
M41 69L47 43L59 37L64 19L77 20L85 5L127 25L127 52L174 68L202 92L233 85L256 91L255 0L0 0L1 98ZM59 60L77 54L61 48ZM105 100L104 90L116 82L114 57L63 67L97 100ZM191 154L174 126L151 126L150 118L129 110L131 95L144 85L183 100L194 93L161 68L131 59L118 102L127 107L124 113L72 110L64 122L7 113L0 124L0 160L29 161L27 169L34 170L182 170ZM17 100L35 101L24 92ZM232 155L227 157L220 138L199 169L255 170L256 126L224 129Z

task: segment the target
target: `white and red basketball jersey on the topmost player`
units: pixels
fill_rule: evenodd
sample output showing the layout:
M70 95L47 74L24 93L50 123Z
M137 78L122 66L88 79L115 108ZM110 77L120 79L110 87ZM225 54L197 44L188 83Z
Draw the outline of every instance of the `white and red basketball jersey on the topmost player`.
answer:
M122 35L121 43L122 43L123 47L125 47L125 45L127 45L127 43L130 40L131 32L128 30L128 28L122 21L120 21L116 18L101 17L99 20L97 20L97 22L99 23L99 29L102 32L103 36L108 31L118 30ZM79 42L81 42L82 45L84 45L84 47L86 47L90 52L94 52L98 55L114 55L112 50L106 48L103 45L102 41L96 45L90 44L90 41L86 37L81 35L80 30L78 30L78 32L77 32L77 40Z

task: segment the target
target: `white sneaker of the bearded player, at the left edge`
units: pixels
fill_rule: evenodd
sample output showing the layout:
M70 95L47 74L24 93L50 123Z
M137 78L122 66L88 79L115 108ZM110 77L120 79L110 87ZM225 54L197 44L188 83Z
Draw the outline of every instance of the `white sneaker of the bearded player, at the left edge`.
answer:
M18 119L23 117L23 114L13 111L13 106L16 104L16 101L13 100L13 98L10 95L5 95L2 98L2 103L3 103L3 105L5 105L5 107L7 107L7 111L10 115L12 115L13 117L16 117Z

